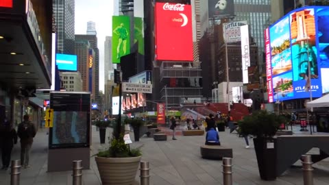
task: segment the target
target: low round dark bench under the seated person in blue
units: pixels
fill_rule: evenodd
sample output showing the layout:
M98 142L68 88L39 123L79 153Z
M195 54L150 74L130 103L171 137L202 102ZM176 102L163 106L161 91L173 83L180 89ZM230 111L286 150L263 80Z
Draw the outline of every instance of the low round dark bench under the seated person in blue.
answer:
M203 145L200 147L202 158L221 160L222 158L233 158L233 151L230 148L219 145Z

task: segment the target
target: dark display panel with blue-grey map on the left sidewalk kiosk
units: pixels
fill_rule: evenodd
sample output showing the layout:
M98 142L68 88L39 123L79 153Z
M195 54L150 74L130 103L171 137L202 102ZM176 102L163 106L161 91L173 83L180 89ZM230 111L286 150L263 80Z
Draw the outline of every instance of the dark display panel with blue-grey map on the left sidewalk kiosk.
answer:
M49 148L88 147L90 145L90 94L54 92L50 94L53 127L49 129Z

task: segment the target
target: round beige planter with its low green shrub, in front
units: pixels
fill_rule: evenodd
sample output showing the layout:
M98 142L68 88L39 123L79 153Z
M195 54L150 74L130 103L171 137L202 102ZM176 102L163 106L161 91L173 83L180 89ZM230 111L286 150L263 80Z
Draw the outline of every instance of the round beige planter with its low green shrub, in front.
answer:
M130 149L122 134L112 136L110 147L95 155L102 184L133 184L141 156L141 147Z

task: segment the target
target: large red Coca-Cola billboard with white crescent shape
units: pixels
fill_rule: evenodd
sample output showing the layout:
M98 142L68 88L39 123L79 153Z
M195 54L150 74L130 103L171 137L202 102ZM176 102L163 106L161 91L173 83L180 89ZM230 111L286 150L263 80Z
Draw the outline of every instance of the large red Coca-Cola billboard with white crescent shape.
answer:
M191 5L156 3L156 60L193 61Z

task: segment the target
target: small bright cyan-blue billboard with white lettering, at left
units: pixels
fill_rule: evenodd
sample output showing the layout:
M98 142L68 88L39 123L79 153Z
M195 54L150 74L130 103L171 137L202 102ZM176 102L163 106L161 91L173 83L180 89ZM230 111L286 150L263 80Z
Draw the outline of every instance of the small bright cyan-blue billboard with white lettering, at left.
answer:
M56 53L56 65L60 71L77 71L77 56Z

